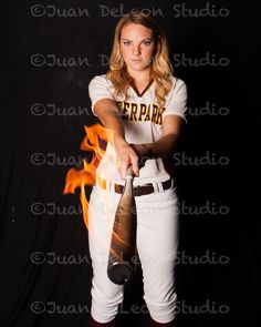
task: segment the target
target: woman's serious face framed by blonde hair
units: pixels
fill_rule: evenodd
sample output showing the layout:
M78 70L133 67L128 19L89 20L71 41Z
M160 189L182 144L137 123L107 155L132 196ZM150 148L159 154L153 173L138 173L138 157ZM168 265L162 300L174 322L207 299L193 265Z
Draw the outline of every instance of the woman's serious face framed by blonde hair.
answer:
M128 70L146 70L154 57L153 31L142 24L129 23L122 29L121 53Z

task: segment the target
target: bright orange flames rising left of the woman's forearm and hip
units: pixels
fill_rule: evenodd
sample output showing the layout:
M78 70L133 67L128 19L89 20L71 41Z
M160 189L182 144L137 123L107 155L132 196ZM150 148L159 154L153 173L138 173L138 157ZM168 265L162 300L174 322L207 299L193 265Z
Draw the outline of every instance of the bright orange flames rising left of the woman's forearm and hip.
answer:
M94 124L92 126L85 126L85 136L81 143L81 150L92 152L93 157L90 163L83 160L83 168L70 168L66 174L65 187L63 194L75 193L75 190L80 187L80 200L83 208L83 218L85 226L88 229L88 202L85 194L85 185L93 186L96 182L95 172L102 161L104 153L106 151L107 143L113 143L113 131L103 127L100 124ZM101 143L106 143L105 149Z

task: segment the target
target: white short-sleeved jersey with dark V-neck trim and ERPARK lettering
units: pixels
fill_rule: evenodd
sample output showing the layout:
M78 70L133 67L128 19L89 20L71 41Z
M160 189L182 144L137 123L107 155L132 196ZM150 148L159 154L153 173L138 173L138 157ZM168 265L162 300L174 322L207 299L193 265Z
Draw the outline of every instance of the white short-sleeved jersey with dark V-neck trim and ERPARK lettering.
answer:
M153 143L160 139L163 133L164 117L167 115L179 115L185 121L187 110L187 86L180 79L173 76L173 88L167 95L166 105L156 104L155 83L150 82L146 90L139 94L134 85L129 86L128 99L113 96L112 82L105 74L96 75L88 84L88 94L92 101L92 111L95 103L101 99L111 99L117 102L125 130L127 143ZM164 182L174 175L173 159L147 160L145 166L139 170L139 176L134 178L134 185L152 182ZM102 159L96 175L106 180L123 183L119 172L116 170L116 153L111 143Z

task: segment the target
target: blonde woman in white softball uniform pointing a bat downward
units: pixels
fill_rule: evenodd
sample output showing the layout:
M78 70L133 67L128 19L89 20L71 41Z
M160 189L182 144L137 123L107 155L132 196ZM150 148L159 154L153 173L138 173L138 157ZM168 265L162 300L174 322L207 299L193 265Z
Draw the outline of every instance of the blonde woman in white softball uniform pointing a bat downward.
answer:
M96 75L88 91L93 113L114 132L114 146L107 145L90 198L91 326L115 326L123 302L123 286L107 277L107 258L121 197L116 186L124 185L129 165L134 186L139 186L136 246L144 299L152 326L173 326L178 245L173 156L186 120L187 88L173 75L166 37L152 16L130 11L118 21L109 71Z

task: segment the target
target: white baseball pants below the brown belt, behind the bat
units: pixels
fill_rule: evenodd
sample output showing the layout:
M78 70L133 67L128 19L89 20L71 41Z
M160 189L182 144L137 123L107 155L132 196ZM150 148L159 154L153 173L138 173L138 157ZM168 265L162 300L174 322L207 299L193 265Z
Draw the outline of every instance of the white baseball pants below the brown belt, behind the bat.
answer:
M157 183L158 184L158 183ZM111 321L123 302L124 287L107 277L107 262L115 212L121 194L94 186L88 206L88 246L93 266L91 315ZM135 196L137 252L143 270L144 299L158 323L175 317L174 265L178 246L178 198L176 186Z

